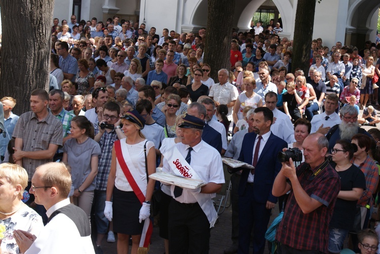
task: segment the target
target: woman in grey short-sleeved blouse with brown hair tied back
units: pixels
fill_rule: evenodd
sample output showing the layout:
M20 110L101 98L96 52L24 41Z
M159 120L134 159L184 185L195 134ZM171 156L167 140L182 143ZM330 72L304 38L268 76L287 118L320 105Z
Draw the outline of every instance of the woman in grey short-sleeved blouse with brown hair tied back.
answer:
M86 212L90 221L101 150L93 139L94 127L85 116L71 119L70 132L72 138L63 146L62 161L71 167L73 203Z

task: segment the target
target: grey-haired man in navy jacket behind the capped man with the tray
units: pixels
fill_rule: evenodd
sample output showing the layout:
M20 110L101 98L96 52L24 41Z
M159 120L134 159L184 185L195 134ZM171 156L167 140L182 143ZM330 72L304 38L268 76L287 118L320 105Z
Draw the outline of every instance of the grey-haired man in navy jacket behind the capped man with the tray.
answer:
M193 117L198 117L204 121L206 116L206 107L201 103L193 102L187 106L187 114ZM215 148L219 154L221 153L221 134L208 124L206 124L203 128L202 140L208 143L211 147Z

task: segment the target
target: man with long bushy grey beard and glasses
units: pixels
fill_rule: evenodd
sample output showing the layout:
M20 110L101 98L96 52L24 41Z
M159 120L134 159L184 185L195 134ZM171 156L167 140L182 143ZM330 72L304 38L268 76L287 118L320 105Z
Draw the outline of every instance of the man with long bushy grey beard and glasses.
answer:
M327 132L328 151L334 148L335 143L339 139L344 139L351 142L352 136L358 133L371 135L364 129L360 128L358 123L358 111L354 106L347 105L340 110L340 124L334 125Z

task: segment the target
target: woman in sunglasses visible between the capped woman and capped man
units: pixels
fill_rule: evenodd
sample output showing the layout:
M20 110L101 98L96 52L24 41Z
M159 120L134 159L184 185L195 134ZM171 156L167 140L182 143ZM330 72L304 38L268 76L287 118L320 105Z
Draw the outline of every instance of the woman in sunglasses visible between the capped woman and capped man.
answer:
M166 100L166 105L162 109L166 117L165 137L176 137L176 113L181 106L181 102L181 98L176 94L170 94Z

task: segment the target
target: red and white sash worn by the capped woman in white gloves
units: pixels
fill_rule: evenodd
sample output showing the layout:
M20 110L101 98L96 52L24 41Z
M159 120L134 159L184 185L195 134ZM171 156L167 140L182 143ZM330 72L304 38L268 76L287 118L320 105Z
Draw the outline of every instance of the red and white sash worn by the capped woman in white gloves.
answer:
M125 139L122 139L123 141ZM125 177L128 180L129 185L131 186L133 192L136 194L138 200L142 204L145 201L145 195L146 195L146 188L140 189L139 186L145 187L146 183L142 183L142 180L140 177L138 177L138 171L135 169L131 157L129 156L128 152L124 152L122 150L122 146L124 147L121 140L115 141L115 152L116 152L116 158L119 162L119 165L121 169L123 170ZM125 148L127 148L125 146ZM128 149L127 149L128 150ZM129 167L127 166L129 165ZM131 168L131 170L129 169ZM147 176L146 176L147 177ZM150 221L150 219L146 219L144 221L144 227L142 229L141 234L141 240L140 240L140 247L148 247L150 242L150 236L153 233L153 225Z

